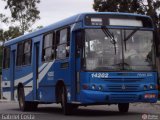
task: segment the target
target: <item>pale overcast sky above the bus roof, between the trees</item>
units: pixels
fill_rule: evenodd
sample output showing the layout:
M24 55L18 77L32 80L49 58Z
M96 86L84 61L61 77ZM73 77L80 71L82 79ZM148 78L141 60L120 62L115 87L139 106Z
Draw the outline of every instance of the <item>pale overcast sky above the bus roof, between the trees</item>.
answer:
M9 15L10 12L4 10L5 4L0 0L0 13ZM46 26L78 13L93 12L92 5L93 0L41 0L38 5L41 19L36 22L34 27ZM4 28L5 25L1 24L1 27Z

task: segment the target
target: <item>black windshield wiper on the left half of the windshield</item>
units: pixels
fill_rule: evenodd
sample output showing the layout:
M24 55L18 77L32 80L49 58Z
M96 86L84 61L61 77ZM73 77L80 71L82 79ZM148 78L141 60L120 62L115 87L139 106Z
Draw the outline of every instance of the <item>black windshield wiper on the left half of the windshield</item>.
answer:
M105 26L102 26L101 29L104 32L104 34L111 39L110 42L114 45L114 50L115 50L115 54L116 54L117 53L117 49L116 49L116 40L114 38L114 35Z

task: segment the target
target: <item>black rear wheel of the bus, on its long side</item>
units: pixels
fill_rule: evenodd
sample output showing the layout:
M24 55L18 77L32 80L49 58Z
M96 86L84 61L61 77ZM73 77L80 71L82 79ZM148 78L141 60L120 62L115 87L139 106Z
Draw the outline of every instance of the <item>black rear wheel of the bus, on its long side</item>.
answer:
M38 103L25 101L25 94L23 87L20 87L18 90L18 101L19 101L19 108L22 111L31 111L37 109Z

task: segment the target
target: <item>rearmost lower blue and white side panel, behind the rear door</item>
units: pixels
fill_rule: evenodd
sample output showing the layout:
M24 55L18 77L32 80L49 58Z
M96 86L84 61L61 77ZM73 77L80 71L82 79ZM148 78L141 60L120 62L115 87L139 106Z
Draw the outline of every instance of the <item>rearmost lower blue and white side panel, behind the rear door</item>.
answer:
M2 96L4 99L11 100L10 69L2 70Z

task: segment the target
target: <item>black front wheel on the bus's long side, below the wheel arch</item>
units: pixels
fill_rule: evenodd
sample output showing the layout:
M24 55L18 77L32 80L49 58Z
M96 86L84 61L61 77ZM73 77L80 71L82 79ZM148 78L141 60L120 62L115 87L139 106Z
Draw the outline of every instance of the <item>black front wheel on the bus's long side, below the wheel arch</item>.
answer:
M72 104L67 103L67 92L66 88L63 86L61 89L61 106L64 115L71 115L72 114Z

